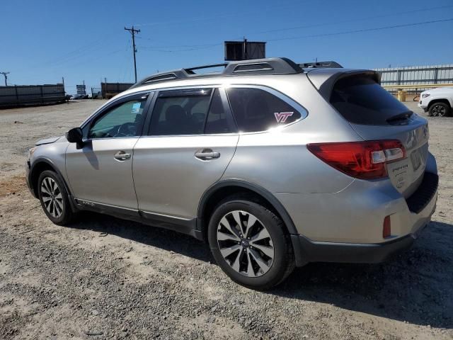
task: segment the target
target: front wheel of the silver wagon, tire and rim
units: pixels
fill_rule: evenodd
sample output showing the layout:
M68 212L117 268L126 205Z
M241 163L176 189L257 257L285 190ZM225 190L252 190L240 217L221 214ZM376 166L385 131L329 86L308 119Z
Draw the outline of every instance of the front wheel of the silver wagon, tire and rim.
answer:
M45 181L44 184L43 181ZM55 188L55 186L50 184L52 181L55 181L57 188L53 193L46 193L46 187ZM59 194L61 194L61 199ZM38 178L38 198L40 199L42 210L44 210L45 215L47 215L49 220L55 223L55 225L69 225L69 223L74 221L76 215L71 209L67 190L63 180L59 178L55 171L45 170L40 174Z

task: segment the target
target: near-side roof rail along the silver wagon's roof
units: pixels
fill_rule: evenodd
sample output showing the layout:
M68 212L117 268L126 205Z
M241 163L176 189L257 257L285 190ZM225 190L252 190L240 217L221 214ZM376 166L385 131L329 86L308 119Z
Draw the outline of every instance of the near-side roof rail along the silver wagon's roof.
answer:
M212 67L224 67L223 72L197 74L197 69L209 69ZM146 77L131 86L131 89L138 86L154 84L161 81L171 81L190 78L214 77L214 76L243 76L250 74L297 74L304 70L292 60L287 58L265 58L256 60L241 60L224 64L213 64L188 69L175 69L168 72L160 72Z

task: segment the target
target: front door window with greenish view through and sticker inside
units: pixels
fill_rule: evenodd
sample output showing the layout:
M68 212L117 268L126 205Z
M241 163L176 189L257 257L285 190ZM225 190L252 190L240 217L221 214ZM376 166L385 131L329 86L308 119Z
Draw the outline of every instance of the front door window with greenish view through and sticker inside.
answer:
M88 138L133 137L140 133L147 96L132 99L108 109L88 131Z

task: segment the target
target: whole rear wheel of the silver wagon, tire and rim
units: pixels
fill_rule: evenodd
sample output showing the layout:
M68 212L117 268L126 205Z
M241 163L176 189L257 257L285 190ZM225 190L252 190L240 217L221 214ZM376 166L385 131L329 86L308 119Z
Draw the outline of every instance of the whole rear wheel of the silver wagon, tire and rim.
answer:
M217 206L208 239L220 268L248 288L273 288L294 269L294 251L282 220L260 203L241 196Z

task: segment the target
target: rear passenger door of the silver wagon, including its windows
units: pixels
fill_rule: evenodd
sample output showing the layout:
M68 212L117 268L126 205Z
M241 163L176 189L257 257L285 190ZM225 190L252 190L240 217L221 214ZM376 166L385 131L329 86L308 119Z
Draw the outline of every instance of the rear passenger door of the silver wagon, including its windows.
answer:
M139 210L183 224L222 177L239 134L222 88L159 91L154 102L148 133L134 147Z

